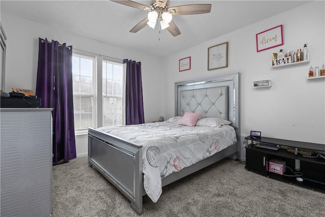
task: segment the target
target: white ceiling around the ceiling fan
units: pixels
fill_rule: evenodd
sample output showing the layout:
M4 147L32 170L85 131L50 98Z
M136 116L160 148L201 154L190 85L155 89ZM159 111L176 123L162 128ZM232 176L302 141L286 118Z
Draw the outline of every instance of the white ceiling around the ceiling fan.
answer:
M149 1L134 2L149 5ZM159 34L157 26L155 29L146 26L138 33L129 33L131 28L147 16L147 12L111 1L1 0L1 12L17 14L128 49L166 56L309 2L171 0L170 7L212 4L209 14L173 16L173 21L181 32L177 37L173 37L167 29L161 30ZM278 20L275 20L275 23L277 22ZM273 26L265 28L269 27Z

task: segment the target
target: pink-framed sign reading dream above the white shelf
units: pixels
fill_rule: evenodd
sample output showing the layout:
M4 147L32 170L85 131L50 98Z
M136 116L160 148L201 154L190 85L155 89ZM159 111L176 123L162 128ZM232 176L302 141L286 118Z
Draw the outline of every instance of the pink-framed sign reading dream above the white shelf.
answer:
M256 34L257 52L283 45L282 25Z

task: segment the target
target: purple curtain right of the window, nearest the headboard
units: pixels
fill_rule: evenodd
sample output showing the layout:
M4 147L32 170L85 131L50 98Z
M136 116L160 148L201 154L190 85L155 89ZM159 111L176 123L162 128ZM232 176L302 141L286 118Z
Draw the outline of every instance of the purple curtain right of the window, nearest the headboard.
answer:
M141 62L123 60L126 65L125 81L125 124L138 125L144 123Z

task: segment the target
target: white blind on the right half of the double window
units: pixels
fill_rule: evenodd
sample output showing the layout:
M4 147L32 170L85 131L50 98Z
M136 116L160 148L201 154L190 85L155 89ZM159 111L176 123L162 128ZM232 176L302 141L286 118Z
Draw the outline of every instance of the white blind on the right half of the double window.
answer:
M103 59L103 126L122 125L123 64Z

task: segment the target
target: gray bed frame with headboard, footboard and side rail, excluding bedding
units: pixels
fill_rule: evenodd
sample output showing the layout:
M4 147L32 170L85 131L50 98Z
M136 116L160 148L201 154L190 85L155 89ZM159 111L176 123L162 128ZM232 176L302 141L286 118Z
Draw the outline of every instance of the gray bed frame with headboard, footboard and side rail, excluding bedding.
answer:
M182 116L186 111L202 110L200 102L197 105L182 103L182 92L205 88L228 86L228 112L206 112L204 117L228 114L237 135L237 145L231 145L213 156L206 158L179 172L172 173L161 180L163 187L193 172L201 170L226 157L240 158L240 129L239 129L239 72L212 78L190 80L175 83L175 116ZM203 91L199 91L203 92ZM211 93L210 93L211 94ZM194 95L194 94L193 94ZM220 96L223 94L220 94ZM194 96L193 96L194 98ZM198 101L197 101L198 102ZM212 106L216 103L212 102ZM192 105L188 106L188 105ZM213 109L210 109L212 111ZM217 114L216 114L217 113ZM93 128L88 129L88 162L102 173L128 200L132 208L142 214L142 197L145 195L142 174L142 145L113 135L101 133Z

